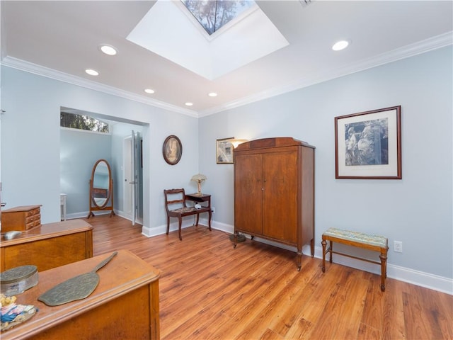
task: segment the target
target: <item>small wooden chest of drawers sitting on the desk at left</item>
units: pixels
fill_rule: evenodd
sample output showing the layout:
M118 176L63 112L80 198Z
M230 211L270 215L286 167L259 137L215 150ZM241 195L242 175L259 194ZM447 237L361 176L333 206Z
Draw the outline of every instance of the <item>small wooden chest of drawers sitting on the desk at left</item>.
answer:
M41 225L41 205L23 205L1 211L1 232L28 230Z

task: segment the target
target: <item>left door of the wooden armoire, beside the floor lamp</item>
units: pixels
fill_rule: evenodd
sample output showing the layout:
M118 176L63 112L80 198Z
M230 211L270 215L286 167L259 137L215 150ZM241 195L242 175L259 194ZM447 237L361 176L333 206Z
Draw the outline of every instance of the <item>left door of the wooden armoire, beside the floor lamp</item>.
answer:
M237 229L262 234L261 154L238 155L234 163L234 225Z

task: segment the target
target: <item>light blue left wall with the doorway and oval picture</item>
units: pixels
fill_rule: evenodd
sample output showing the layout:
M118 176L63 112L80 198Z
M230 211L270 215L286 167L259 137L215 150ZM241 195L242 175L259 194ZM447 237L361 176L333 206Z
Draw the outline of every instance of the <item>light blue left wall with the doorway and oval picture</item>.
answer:
M165 225L164 188L195 190L190 178L198 172L197 118L2 66L1 108L6 113L1 115L1 181L6 208L42 204L43 223L59 220L61 106L144 124L144 227ZM168 135L177 135L183 143L175 166L162 157Z

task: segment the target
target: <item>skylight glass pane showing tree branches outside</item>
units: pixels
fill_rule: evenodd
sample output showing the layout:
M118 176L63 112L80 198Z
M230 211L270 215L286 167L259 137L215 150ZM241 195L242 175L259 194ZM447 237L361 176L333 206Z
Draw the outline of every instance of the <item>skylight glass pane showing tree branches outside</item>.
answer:
M181 2L209 35L255 4L255 1L244 0L181 0Z

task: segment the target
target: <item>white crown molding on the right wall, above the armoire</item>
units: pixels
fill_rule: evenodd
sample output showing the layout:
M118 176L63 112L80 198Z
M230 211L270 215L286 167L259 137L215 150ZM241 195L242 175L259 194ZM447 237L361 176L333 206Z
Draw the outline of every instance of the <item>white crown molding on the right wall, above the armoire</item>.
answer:
M308 75L302 79L287 84L285 86L275 87L273 89L268 89L262 91L259 94L254 94L252 96L240 98L237 101L231 101L222 106L217 106L216 108L210 108L205 111L200 111L198 115L200 117L205 117L207 115L213 115L214 113L219 113L226 110L231 110L232 108L237 108L239 106L244 106L249 103L256 101L262 101L266 98L273 96L279 96L280 94L286 94L287 92L295 91L308 87L314 84L322 83L323 81L328 81L336 79L339 77L346 76L348 74L353 74L356 72L364 71L365 69L371 69L373 67L378 67L383 64L388 64L390 62L396 62L398 60L406 59L408 57L413 57L415 55L420 55L425 52L432 50L437 50L442 47L447 47L453 44L453 31L447 33L436 35L435 37L422 40L420 42L415 42L411 45L406 45L396 50L391 50L390 52L382 53L372 58L361 60L360 62L355 62L353 64L346 65L339 69L331 69L327 72L313 72L313 74Z

